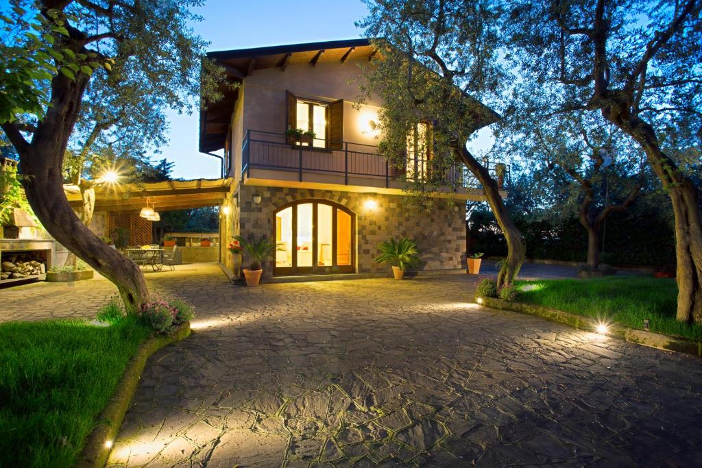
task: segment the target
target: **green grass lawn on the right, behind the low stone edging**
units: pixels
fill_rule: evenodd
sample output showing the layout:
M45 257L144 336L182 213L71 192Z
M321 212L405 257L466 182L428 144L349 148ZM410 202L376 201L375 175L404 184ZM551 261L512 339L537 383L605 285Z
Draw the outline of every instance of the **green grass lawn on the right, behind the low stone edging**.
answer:
M695 340L702 339L702 326L675 320L677 286L674 279L650 276L608 276L594 279L516 281L519 286L536 285L522 291L517 300L574 314L643 328Z

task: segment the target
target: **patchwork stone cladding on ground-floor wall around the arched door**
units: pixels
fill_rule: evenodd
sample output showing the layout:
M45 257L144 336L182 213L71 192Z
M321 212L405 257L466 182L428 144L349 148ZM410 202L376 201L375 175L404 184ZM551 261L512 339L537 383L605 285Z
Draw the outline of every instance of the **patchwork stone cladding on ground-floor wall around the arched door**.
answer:
M253 203L253 194L261 202ZM389 272L388 265L378 265L378 243L390 237L409 237L422 252L425 270L461 268L465 250L465 206L456 203L458 211L447 199L435 199L430 213L413 214L403 206L402 195L362 194L332 190L292 189L282 187L239 186L239 230L261 236L274 235L274 211L292 201L320 199L335 201L356 215L356 272ZM375 210L364 206L368 199L378 204ZM264 275L271 276L272 262L264 266Z

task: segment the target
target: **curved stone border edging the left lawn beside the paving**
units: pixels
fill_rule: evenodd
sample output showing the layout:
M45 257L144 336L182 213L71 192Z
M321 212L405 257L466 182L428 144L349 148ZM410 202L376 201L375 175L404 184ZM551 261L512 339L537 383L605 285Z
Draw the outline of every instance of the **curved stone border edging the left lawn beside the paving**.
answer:
M122 424L122 420L124 420L124 415L139 384L146 360L162 347L183 340L189 335L190 322L185 322L167 335L151 337L139 346L139 349L137 349L137 352L127 364L124 375L117 385L117 391L114 392L112 399L100 413L98 425L88 435L83 451L78 457L76 467L102 468L105 466L107 457L112 451L112 443L108 446L107 441L112 442L117 437L119 427Z

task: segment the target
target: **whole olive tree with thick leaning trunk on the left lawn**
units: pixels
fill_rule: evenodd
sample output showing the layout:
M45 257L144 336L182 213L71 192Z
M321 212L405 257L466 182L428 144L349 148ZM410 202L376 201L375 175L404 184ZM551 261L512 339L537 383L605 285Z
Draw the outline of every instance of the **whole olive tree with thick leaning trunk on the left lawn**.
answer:
M144 276L74 213L63 192L63 161L96 75L114 72L116 81L138 84L145 106L185 110L192 105L206 44L187 22L198 19L190 8L201 2L11 3L0 18L6 25L0 44L0 125L20 156L27 200L46 230L110 279L133 312L148 295ZM206 74L205 93L220 76Z

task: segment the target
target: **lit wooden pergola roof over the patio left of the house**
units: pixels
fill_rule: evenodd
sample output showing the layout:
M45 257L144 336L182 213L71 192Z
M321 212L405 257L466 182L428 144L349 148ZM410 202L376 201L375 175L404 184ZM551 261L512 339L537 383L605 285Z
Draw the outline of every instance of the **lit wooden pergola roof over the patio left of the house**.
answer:
M156 211L218 206L230 193L233 179L168 180L138 184L102 184L95 187L95 211L136 212L144 206ZM69 203L81 207L76 185L64 186Z

